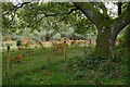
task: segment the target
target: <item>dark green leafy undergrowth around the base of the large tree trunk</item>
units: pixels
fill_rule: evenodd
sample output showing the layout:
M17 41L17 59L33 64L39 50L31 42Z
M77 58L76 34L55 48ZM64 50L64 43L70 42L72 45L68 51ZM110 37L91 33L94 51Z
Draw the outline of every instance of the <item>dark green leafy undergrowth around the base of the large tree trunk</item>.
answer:
M66 72L67 76L74 80L87 78L90 83L100 85L114 84L114 80L118 84L128 84L128 67L122 57L116 57L116 61L113 62L107 57L92 57L84 51L83 55L67 60Z

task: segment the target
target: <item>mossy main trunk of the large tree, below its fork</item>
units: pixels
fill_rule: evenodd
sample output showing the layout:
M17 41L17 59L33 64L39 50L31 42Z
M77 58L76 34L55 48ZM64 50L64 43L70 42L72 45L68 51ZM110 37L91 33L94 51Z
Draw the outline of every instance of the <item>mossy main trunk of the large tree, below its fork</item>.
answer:
M114 46L116 37L114 36L113 28L110 27L103 27L103 29L99 29L94 54L108 57L115 61Z

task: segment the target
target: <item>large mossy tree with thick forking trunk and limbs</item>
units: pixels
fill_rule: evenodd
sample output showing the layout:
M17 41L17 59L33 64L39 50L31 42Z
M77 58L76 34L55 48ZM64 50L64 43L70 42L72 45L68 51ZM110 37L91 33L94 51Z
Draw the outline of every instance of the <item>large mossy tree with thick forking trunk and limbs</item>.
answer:
M114 46L117 35L130 23L130 2L126 11L117 18L110 18L107 9L103 5L103 13L100 13L91 3L74 2L74 4L88 17L98 28L98 38L94 53L113 58Z

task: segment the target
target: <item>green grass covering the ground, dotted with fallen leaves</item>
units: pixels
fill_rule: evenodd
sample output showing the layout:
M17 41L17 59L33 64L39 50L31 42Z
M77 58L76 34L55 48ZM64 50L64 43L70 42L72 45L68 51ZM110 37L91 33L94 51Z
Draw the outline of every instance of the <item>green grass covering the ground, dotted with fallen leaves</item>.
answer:
M116 55L119 55L116 48ZM100 64L89 53L87 48L67 48L67 58L61 51L51 48L34 48L31 50L11 50L11 59L20 53L25 58L21 63L10 64L9 77L5 75L6 50L3 50L2 76L3 85L126 85L128 84L128 67L126 52L117 57L119 65L114 66L104 60ZM90 59L91 58L91 59ZM69 61L69 62L68 62ZM70 62L72 61L72 62ZM99 62L99 60L96 60ZM83 64L83 65L82 65ZM91 65L94 64L94 65ZM102 69L102 70L101 70ZM106 69L106 70L105 70ZM112 72L113 71L113 72Z

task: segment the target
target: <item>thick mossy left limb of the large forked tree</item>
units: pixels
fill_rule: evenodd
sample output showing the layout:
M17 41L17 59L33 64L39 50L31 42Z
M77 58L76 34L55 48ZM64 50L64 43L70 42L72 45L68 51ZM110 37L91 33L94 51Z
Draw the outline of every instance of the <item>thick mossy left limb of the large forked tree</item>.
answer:
M74 2L74 4L88 17L90 21L99 26L104 21L104 15L101 14L89 2Z

